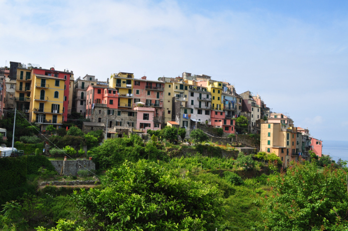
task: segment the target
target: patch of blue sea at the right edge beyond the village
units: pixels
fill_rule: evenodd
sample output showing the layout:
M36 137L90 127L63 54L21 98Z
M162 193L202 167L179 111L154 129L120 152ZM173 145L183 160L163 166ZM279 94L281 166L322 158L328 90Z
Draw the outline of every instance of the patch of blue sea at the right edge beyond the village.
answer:
M348 141L323 141L323 154L330 155L336 162L339 158L348 161Z

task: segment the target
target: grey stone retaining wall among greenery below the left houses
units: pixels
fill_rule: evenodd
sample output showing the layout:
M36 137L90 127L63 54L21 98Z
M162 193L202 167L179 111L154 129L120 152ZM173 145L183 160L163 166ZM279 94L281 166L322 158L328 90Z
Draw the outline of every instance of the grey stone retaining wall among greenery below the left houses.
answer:
M95 170L95 163L91 160L51 160L51 163L58 174L65 176L77 176L80 170Z

